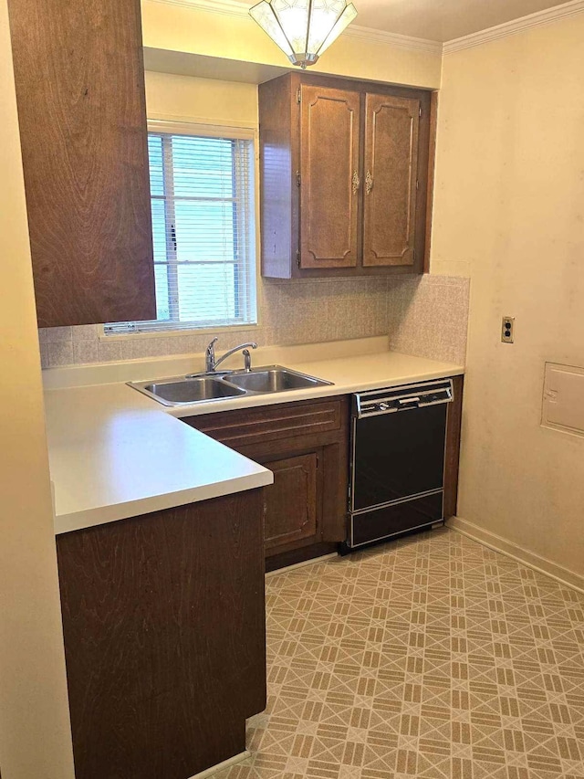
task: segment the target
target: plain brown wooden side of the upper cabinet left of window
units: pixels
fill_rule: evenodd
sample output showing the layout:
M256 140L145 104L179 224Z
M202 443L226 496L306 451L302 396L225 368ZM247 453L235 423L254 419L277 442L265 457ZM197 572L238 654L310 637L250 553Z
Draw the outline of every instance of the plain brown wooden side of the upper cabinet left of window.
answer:
M9 0L38 323L156 317L140 0Z

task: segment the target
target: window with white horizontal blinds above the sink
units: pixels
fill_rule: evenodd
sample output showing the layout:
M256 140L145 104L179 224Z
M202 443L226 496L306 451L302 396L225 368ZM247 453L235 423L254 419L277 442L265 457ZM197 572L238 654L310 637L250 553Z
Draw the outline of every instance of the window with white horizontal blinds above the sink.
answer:
M157 319L105 332L255 324L252 131L171 122L149 130Z

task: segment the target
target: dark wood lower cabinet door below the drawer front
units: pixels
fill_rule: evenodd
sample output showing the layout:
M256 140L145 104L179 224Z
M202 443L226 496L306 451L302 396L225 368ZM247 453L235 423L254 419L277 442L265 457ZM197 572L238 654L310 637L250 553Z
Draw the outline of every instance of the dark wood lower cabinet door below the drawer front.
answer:
M267 460L274 484L265 490L266 554L318 532L318 455L316 452Z

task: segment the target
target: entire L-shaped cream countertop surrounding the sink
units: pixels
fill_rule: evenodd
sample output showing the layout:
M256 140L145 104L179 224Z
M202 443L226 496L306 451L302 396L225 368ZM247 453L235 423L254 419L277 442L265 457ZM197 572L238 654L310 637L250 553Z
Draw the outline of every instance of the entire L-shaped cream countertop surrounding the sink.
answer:
M369 347L374 344L370 340ZM187 406L164 406L120 378L162 378L169 365L187 373L192 360L118 363L47 376L46 412L55 532L68 532L273 482L271 471L178 418L254 405L347 395L464 373L464 367L352 344L322 349L264 350L254 366L280 363L333 385L273 395L249 395ZM328 357L328 359L327 359ZM332 357L333 359L330 359ZM266 358L266 359L265 359ZM232 367L229 364L227 367ZM237 366L238 367L238 366ZM180 369L183 369L182 371ZM148 371L151 371L149 374ZM193 370L191 367L190 370ZM75 377L72 382L70 377ZM64 376L67 377L65 381ZM83 385L90 380L98 384ZM85 377L85 378L84 378ZM67 385L78 384L78 385ZM81 385L79 385L81 384ZM50 388L58 387L58 388Z

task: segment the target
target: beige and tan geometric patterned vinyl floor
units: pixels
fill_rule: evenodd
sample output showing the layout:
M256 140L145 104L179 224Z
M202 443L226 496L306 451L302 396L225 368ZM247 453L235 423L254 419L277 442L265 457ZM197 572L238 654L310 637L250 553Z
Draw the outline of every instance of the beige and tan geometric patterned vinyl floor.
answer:
M584 777L584 595L444 529L266 597L267 709L215 779Z

